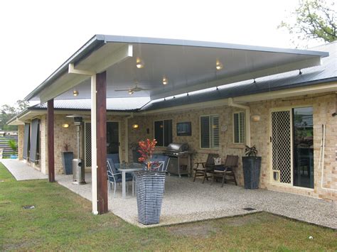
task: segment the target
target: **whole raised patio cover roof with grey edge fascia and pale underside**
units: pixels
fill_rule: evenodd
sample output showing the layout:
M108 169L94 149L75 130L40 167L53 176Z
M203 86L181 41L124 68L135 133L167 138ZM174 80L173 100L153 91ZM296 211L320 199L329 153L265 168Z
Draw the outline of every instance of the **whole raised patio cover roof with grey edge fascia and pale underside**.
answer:
M230 84L242 80L287 72L319 65L328 53L315 50L267 48L192 40L141 38L116 35L95 35L58 67L26 99L73 99L73 88L79 91L76 99L90 98L90 76L107 72L107 97L127 97L135 80L146 90L134 97L151 99L193 92L206 87ZM144 60L145 67L136 67L136 60ZM215 70L215 62L223 68ZM89 75L77 75L71 70ZM169 84L163 85L163 75Z

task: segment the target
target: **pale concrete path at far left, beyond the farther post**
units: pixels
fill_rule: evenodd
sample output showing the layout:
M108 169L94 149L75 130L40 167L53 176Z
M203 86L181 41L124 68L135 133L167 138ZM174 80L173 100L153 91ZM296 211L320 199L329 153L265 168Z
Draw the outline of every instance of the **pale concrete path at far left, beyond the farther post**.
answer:
M23 163L23 161L17 159L0 159L0 162L6 166L16 180L42 180L48 178L48 175Z

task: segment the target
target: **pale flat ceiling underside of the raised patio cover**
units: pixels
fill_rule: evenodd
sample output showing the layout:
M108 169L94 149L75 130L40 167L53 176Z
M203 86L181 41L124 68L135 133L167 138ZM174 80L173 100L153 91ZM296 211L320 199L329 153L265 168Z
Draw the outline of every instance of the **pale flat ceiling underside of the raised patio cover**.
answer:
M132 50L131 52L128 50ZM144 67L136 67L139 57ZM223 64L215 69L215 62ZM75 65L77 70L107 70L107 97L130 97L134 82L151 89L134 92L132 97L159 99L208 87L250 80L320 65L321 57L304 53L280 53L263 50L203 48L186 45L107 43ZM169 83L162 83L163 77ZM73 97L73 89L79 95ZM66 73L41 92L41 102L56 99L90 98L90 76Z

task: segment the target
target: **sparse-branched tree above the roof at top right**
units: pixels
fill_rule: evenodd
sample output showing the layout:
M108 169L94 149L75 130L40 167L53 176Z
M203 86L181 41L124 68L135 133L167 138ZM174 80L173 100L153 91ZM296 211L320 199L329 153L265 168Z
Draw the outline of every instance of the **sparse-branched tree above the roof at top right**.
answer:
M287 28L297 40L333 42L337 40L334 7L332 0L300 0L288 21L282 21L278 28Z

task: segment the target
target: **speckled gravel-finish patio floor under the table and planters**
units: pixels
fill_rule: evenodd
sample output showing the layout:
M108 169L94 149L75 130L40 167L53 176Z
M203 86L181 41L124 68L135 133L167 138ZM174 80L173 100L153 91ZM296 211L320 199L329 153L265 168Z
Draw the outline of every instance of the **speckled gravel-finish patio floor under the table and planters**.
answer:
M73 185L72 175L56 175L60 185L91 200L91 173L85 174L87 185ZM253 211L244 210L246 207ZM145 227L137 221L136 197L129 185L127 199L122 199L122 185L117 186L116 197L109 192L109 211L125 221ZM166 176L164 201L160 224L163 226L205 219L232 217L252 212L271 212L291 219L337 229L336 203L321 199L269 190L245 190L235 185L210 185L189 177Z

